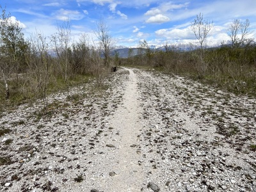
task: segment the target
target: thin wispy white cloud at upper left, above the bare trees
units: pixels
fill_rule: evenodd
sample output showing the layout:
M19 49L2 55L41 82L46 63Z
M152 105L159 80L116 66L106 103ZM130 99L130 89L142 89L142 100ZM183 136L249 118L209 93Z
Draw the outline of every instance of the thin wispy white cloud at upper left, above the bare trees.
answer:
M83 19L84 15L78 11L75 10L64 10L61 8L56 13L56 18L59 20L80 20Z

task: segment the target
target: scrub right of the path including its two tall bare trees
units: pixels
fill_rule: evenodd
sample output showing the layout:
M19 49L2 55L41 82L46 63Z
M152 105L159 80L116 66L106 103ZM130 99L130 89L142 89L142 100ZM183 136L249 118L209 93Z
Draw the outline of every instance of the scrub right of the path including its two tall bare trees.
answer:
M191 77L202 83L210 83L228 92L256 96L256 44L250 38L250 22L234 20L227 29L230 42L220 47L209 48L206 38L213 23L197 15L191 23L198 46L188 51L179 47L164 45L161 51L154 51L144 40L138 46L138 53L129 50L128 58L122 65L154 67L157 70L179 76Z

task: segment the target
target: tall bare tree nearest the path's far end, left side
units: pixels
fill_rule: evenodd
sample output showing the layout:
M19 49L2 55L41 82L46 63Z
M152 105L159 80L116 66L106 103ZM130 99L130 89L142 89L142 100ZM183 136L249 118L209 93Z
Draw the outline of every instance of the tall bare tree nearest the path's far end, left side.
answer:
M99 39L100 47L104 54L104 65L109 65L110 48L113 45L113 38L109 34L109 28L103 19L97 23L97 29L94 31L95 35Z

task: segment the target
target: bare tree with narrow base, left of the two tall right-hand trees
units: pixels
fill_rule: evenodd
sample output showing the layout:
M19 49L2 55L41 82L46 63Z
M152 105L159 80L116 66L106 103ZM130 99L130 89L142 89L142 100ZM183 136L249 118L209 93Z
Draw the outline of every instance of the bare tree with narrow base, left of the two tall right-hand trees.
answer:
M191 30L198 39L201 49L203 49L203 44L212 28L213 22L204 20L204 15L202 13L196 15L196 19L191 23Z

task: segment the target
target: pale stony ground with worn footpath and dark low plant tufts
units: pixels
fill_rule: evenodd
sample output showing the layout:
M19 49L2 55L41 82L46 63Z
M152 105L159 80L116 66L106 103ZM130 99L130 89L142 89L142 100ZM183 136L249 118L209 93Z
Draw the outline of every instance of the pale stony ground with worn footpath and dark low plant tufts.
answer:
M256 100L120 68L8 109L1 191L256 191Z

